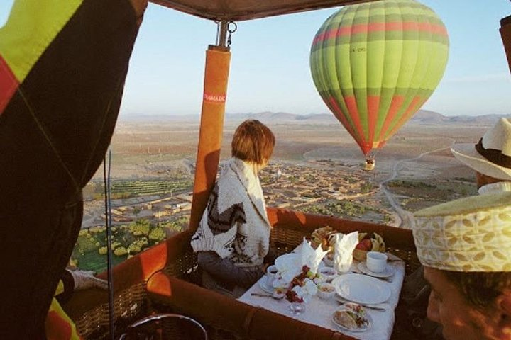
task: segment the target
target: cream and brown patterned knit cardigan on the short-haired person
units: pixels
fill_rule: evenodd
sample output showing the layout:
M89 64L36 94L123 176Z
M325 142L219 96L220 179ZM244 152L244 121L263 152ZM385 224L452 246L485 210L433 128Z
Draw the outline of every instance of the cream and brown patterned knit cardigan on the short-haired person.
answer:
M197 232L194 251L215 251L236 266L260 266L268 254L270 222L263 190L250 164L231 158L217 179Z

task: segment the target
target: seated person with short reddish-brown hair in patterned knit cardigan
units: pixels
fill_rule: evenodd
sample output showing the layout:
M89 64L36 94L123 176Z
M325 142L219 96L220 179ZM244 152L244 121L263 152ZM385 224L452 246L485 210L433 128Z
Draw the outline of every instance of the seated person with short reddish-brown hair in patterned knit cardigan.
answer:
M221 169L191 242L206 288L239 297L265 271L271 227L258 172L274 146L273 132L258 120L246 120L234 132L232 157Z

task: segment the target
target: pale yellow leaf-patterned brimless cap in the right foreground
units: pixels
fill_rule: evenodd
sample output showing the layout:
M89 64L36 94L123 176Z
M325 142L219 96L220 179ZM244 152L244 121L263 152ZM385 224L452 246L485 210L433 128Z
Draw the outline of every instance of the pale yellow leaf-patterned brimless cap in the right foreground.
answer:
M461 198L414 217L417 256L424 266L511 271L511 192Z

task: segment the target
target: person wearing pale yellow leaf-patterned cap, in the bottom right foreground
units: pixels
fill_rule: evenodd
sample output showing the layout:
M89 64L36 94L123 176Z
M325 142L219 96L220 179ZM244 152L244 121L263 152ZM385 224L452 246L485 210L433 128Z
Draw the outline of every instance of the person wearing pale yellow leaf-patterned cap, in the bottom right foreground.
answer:
M511 193L419 210L412 231L444 338L511 339Z

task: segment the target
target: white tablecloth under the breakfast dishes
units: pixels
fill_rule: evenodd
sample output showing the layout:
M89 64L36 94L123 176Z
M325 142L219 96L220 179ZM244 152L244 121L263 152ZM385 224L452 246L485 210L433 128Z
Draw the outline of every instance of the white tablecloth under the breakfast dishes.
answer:
M392 258L391 255L389 258ZM351 272L358 271L358 269L356 269L356 264L357 263L353 263L351 266ZM339 309L339 302L336 301L335 297L332 297L330 300L322 300L316 295L307 303L304 313L293 315L289 309L290 302L287 302L285 298L282 300L275 300L272 297L252 296L251 293L265 293L264 290L260 288L260 282L258 282L239 297L238 300L248 305L263 307L272 312L298 319L302 322L339 331L340 333L353 336L357 339L390 339L395 320L394 310L399 301L402 281L405 277L405 263L402 261L392 261L388 264L394 271L394 276L392 276L392 282L385 282L382 280L382 283L388 285L391 295L386 302L378 304L378 306L385 307L385 311L366 308L366 312L370 314L370 317L373 319L373 324L367 331L363 332L345 331L334 324L331 318L334 312ZM260 278L260 281L262 280L265 280L265 276Z

